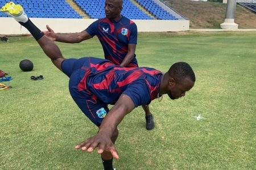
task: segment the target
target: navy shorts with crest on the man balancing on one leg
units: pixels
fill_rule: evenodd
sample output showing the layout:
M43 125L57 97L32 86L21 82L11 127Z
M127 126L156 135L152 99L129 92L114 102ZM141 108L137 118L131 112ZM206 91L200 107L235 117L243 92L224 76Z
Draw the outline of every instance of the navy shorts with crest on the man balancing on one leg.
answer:
M92 98L86 91L79 91L77 85L82 79L83 71L81 67L86 61L86 58L69 58L61 63L61 69L69 77L69 92L81 111L93 122L96 126L100 126L102 120L109 112L108 104L102 103L99 100Z

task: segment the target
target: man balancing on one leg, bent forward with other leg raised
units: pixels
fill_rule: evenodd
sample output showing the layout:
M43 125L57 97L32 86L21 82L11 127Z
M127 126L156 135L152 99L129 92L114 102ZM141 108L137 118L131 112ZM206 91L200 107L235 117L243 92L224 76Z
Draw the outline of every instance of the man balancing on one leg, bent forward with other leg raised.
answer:
M163 74L148 67L126 68L109 60L84 57L65 59L58 46L27 18L23 8L7 3L2 12L13 16L30 31L53 64L69 76L69 92L81 111L98 126L98 133L75 148L92 152L98 147L104 169L113 169L118 159L114 143L118 124L139 105L146 105L163 94L174 100L185 96L195 84L195 74L185 62L174 63ZM114 104L109 111L108 104Z

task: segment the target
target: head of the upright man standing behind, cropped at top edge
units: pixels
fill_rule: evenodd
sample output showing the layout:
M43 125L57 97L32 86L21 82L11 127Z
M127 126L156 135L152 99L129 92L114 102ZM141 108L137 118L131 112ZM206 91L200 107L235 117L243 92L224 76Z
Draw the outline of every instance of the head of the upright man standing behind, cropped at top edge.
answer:
M115 19L122 11L122 0L106 0L105 15L106 18Z

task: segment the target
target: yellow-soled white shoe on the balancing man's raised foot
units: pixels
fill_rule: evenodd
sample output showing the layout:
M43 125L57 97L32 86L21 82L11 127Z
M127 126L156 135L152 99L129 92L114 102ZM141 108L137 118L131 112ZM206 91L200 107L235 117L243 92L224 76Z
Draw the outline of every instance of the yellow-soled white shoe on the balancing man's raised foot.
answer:
M17 22L23 22L26 23L28 20L28 17L26 13L24 12L22 6L15 5L14 2L8 2L6 5L4 5L1 9L1 12L12 16Z

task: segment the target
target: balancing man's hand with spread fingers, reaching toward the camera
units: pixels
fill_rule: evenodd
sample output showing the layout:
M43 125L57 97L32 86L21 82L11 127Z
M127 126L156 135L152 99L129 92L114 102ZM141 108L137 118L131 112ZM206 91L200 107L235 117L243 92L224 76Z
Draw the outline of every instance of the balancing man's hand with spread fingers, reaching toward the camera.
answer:
M94 135L94 137L91 137L86 141L81 142L75 148L81 148L82 151L92 152L96 147L98 147L98 154L102 154L105 150L109 151L114 159L119 158L117 149L115 148L113 142L111 141L110 137L108 135L105 135L104 133L98 133Z

